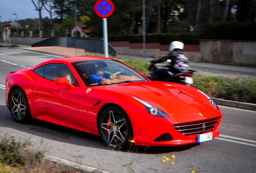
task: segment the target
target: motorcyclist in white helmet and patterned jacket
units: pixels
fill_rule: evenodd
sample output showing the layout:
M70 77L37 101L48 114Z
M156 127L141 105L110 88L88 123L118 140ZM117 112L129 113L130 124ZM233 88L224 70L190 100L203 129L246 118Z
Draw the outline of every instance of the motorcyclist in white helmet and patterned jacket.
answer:
M170 75L178 74L184 69L188 69L188 58L180 52L184 48L184 44L179 41L171 42L169 46L169 53L160 59L152 60L151 63L157 64L161 62L169 62L167 68L160 68L155 71L152 80L164 81Z

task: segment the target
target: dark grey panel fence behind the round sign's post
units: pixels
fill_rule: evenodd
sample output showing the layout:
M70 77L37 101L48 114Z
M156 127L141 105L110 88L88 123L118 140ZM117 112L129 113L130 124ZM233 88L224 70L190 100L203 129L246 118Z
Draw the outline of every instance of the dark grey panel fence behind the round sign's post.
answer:
M62 37L54 36L31 45L32 47L42 46L62 46L72 48L82 48L85 52L104 53L103 38L83 38L83 37ZM108 52L111 56L116 56L116 50L108 44Z

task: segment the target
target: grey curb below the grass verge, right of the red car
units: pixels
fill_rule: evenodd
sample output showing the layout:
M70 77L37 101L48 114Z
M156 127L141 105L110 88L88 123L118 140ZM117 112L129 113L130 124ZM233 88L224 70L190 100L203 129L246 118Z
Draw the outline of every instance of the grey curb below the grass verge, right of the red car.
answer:
M217 105L256 111L256 104L212 98Z

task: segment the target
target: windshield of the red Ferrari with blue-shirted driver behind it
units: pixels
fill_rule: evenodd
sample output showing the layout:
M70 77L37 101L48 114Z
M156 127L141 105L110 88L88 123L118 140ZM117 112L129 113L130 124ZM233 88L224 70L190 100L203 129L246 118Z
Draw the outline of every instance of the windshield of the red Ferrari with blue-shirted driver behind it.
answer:
M97 59L71 63L86 86L148 81L117 60Z

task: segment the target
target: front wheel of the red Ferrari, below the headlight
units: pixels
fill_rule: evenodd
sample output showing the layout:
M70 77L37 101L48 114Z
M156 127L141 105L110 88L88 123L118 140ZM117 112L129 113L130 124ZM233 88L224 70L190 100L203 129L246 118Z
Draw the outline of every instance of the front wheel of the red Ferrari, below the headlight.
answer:
M118 107L107 108L99 120L99 133L107 145L125 149L132 138L132 124L124 110Z

